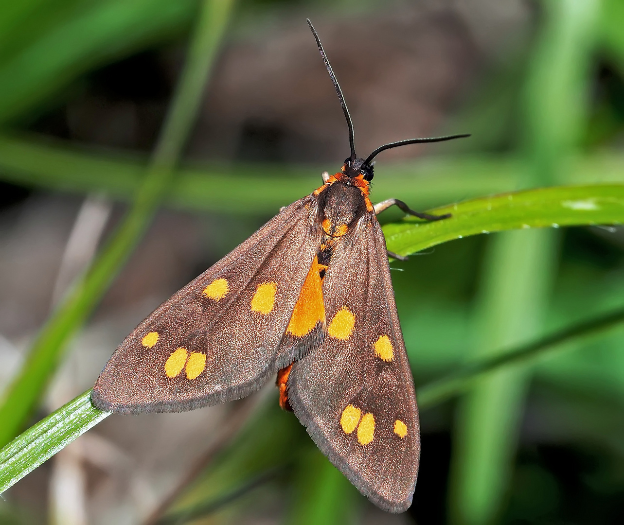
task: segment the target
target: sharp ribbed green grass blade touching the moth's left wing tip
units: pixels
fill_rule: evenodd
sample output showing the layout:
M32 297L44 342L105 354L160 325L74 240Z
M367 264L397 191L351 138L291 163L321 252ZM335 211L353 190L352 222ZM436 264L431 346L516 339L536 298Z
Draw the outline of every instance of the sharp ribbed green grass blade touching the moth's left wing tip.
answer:
M91 391L87 390L32 425L0 450L0 493L109 414L91 405Z

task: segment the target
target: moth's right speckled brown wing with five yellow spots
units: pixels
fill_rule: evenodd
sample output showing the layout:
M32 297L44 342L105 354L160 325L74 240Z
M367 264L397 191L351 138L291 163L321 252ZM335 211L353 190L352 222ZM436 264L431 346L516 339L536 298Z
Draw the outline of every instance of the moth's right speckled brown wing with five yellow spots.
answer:
M419 423L386 241L373 214L336 245L323 295L328 337L293 365L288 402L361 493L402 512L416 485Z

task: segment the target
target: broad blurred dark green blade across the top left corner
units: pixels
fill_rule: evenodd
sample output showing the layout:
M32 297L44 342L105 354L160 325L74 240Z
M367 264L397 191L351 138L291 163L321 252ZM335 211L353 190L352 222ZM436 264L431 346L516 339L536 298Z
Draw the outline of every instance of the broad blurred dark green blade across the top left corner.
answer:
M0 122L32 110L96 65L179 31L197 0L92 2L0 68Z

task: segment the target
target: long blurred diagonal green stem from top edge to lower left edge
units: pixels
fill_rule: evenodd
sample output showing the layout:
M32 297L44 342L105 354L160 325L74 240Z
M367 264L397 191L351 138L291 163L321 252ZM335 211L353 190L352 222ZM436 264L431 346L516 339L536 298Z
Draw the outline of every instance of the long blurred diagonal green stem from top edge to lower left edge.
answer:
M230 0L207 0L190 46L185 72L134 206L107 248L52 314L0 407L0 443L7 443L32 412L62 359L65 345L99 302L149 226L173 175L172 166L193 123L207 72L232 7ZM193 98L195 97L195 98Z

